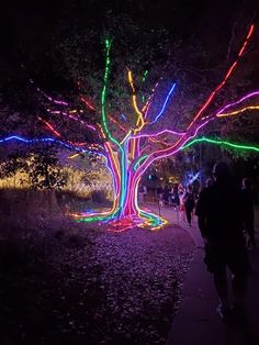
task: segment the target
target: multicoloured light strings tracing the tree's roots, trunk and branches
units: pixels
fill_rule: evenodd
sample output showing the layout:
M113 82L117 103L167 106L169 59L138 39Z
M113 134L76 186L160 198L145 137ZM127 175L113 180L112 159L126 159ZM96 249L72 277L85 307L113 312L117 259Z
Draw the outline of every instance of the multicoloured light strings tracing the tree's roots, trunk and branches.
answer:
M53 124L40 118L42 122L44 122L48 130L57 136L58 138L36 138L36 140L26 140L21 136L9 136L7 138L0 140L0 143L7 143L10 141L20 141L23 143L55 143L61 145L66 148L76 151L76 154L70 156L70 158L77 157L77 155L86 152L94 152L97 153L100 148L102 149L101 155L105 157L106 166L111 171L113 178L113 188L114 188L114 201L111 210L103 211L103 212L87 212L87 213L74 213L72 216L78 222L105 222L108 226L112 231L124 231L126 229L131 229L132 226L148 226L149 229L157 230L167 224L167 220L162 219L161 216L154 214L149 210L143 210L138 205L138 185L143 174L146 169L150 166L153 162L159 158L168 157L171 155L177 154L179 151L187 149L188 147L196 144L196 143L207 143L207 144L215 144L222 147L229 147L234 149L245 149L249 152L259 152L259 147L256 145L248 145L248 144L238 144L232 143L224 140L211 138L211 137L196 137L199 131L203 129L207 123L211 121L218 119L218 118L232 118L234 115L241 114L246 111L258 110L259 105L249 104L243 107L241 109L234 109L234 107L240 104L241 102L248 101L254 99L255 97L259 96L259 91L254 91L248 93L247 96L243 97L240 100L224 105L221 110L218 110L215 114L210 116L204 116L205 111L207 110L209 105L215 98L215 96L222 90L223 86L227 82L229 77L232 76L233 71L237 67L237 64L240 57L244 55L245 48L250 40L250 36L255 30L255 26L251 25L249 32L245 38L241 48L238 52L238 56L236 60L230 65L226 75L222 79L222 81L217 85L217 87L210 93L206 98L204 103L201 105L198 113L193 116L193 120L188 125L185 131L173 131L170 129L157 131L156 133L144 133L144 129L148 124L156 124L158 120L166 113L167 105L173 94L176 89L176 84L172 84L169 88L168 93L162 102L161 109L159 112L154 116L153 121L147 121L149 116L149 110L151 109L154 96L156 89L158 88L159 82L155 85L151 89L150 96L148 97L146 103L142 107L142 109L137 104L137 93L136 87L134 86L133 74L128 69L127 71L127 79L132 90L131 101L132 101L132 109L134 113L137 115L135 124L130 127L130 122L127 121L130 115L125 116L121 114L120 118L124 120L124 123L121 124L114 114L106 113L106 97L108 97L108 87L109 87L109 79L111 73L111 45L112 42L110 38L105 40L105 67L103 74L103 86L101 90L101 123L97 125L87 124L81 116L85 110L77 110L77 109L68 109L68 103L59 100L55 100L54 98L47 96L42 90L37 89L42 94L44 94L48 101L53 102L54 105L58 107L66 107L66 109L61 110L49 110L53 114L61 114L71 119L74 121L78 121L79 123L83 124L85 126L92 126L92 129L98 133L99 138L102 141L102 145L98 146L89 146L89 147L81 147L86 143L72 143L72 142L65 142L60 141L61 134L54 127ZM145 82L147 77L147 71L144 73L142 82ZM161 79L161 78L160 78ZM157 93L157 92L156 92ZM91 101L88 100L87 97L80 94L80 101L83 105L88 108L89 111L98 112L97 107L92 104ZM60 109L60 108L58 108ZM109 127L109 120L116 124L116 129L111 126L112 132ZM126 123L127 122L127 123ZM111 123L110 123L111 124ZM127 126L126 126L127 125ZM120 133L120 140L114 136ZM151 129L148 127L148 132ZM167 138L165 138L165 135ZM173 140L172 142L168 143L166 140ZM146 153L146 148L149 147L151 143L156 144L156 149ZM162 146L162 148L161 148ZM159 148L158 148L159 147ZM90 149L90 151L88 151ZM148 148L149 149L149 148Z

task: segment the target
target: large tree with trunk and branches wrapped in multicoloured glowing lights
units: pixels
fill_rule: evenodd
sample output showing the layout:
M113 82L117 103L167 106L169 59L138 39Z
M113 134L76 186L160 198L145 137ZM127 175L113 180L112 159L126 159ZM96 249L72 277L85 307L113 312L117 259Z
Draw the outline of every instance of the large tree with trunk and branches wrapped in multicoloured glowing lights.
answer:
M105 66L100 108L94 103L98 100L95 96L86 96L81 90L78 100L71 107L71 103L54 99L37 89L50 102L47 108L47 119L40 115L37 119L57 137L57 143L69 146L79 153L90 152L103 156L113 177L114 202L112 209L100 214L74 214L78 221L109 220L116 230L125 230L134 225L158 229L167 222L139 208L137 190L140 178L154 162L177 155L195 142L233 145L226 141L196 138L196 135L209 124L214 124L216 120L234 118L237 114L259 109L259 105L255 105L259 91L247 93L219 109L215 109L215 104L214 108L211 107L244 56L254 30L255 26L251 25L237 58L227 69L222 81L205 97L205 101L199 107L196 113L192 112L192 118L190 108L193 108L193 104L190 102L191 107L182 119L180 116L177 116L177 120L170 118L166 122L166 112L170 114L173 111L171 99L177 89L176 82L169 84L166 78L160 78L148 94L147 90L143 88L147 71L144 70L142 78L138 77L135 82L130 67L127 67L128 89L122 88L123 102L115 104L113 111L113 102L119 96L120 89L113 88L110 99L112 40L109 36L104 37ZM166 97L164 96L161 99L166 89ZM127 98L131 99L131 109L126 103ZM252 105L251 102L254 102ZM123 111L119 105L123 105ZM86 113L90 119L89 122L86 122ZM58 124L63 134L56 125L49 122L50 118L55 116L56 119L58 115L60 115ZM98 115L100 115L99 120ZM71 124L68 125L68 123ZM162 129L162 125L166 127ZM238 144L235 147L246 148ZM259 151L256 146L251 149Z

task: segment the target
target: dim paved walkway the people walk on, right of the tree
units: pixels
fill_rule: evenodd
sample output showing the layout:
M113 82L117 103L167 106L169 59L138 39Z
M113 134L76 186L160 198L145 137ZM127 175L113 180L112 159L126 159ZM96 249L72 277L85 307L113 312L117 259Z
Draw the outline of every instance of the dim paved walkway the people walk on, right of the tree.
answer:
M158 212L158 207L148 204ZM162 208L161 215L179 224L193 237L196 249L183 283L183 302L174 318L166 345L258 345L259 344L259 249L250 251L252 272L246 299L247 321L227 325L215 312L218 300L212 276L203 263L203 241L196 221L189 227L172 208ZM259 232L257 232L259 243Z

